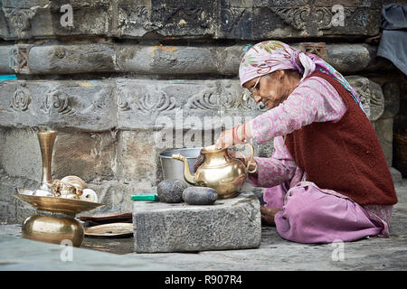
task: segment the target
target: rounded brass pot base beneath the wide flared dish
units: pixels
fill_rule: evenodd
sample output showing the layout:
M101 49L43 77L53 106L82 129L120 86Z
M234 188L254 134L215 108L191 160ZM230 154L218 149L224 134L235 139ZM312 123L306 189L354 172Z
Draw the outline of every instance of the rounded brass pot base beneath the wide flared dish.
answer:
M37 212L38 213L38 212ZM70 240L73 247L80 247L84 230L80 222L69 215L33 215L25 219L22 237L52 244Z

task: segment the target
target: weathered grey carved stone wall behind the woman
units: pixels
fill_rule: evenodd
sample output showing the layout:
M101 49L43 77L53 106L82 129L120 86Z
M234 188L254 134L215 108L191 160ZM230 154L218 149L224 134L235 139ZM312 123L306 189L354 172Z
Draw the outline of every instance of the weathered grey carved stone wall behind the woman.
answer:
M58 131L52 177L83 178L107 204L99 211L132 210L129 196L162 180L158 154L212 144L266 111L238 69L247 44L269 39L345 75L392 165L405 80L372 41L387 2L0 0L0 75L17 76L0 82L0 220L31 213L11 193L38 186L35 131L47 127Z

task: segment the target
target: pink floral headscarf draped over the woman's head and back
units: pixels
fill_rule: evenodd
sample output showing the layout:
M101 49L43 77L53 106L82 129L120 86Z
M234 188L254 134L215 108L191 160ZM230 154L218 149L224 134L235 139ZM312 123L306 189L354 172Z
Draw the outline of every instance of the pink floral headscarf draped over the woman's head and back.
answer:
M299 61L302 65L298 65ZM317 55L296 51L286 43L279 41L260 42L251 46L244 54L239 67L241 87L251 79L266 75L276 70L298 70L302 74L300 80L308 78L314 71L319 71L336 79L347 91L349 91L359 107L364 110L359 95L353 89L342 74L323 61Z

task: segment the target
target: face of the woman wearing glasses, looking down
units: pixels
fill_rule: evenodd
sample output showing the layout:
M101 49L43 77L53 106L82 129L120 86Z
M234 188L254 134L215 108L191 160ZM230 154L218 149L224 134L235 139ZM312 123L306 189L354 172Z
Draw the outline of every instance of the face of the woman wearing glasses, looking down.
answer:
M251 96L256 103L261 101L266 107L277 107L298 85L295 79L290 79L288 76L289 74L283 70L278 70L247 81L243 84L243 88L251 91Z

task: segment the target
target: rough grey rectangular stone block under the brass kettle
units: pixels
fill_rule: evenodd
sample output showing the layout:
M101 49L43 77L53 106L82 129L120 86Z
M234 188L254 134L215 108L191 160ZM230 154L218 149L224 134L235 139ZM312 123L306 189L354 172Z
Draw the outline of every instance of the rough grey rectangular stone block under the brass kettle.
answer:
M137 253L260 247L260 202L251 192L213 205L134 201Z

